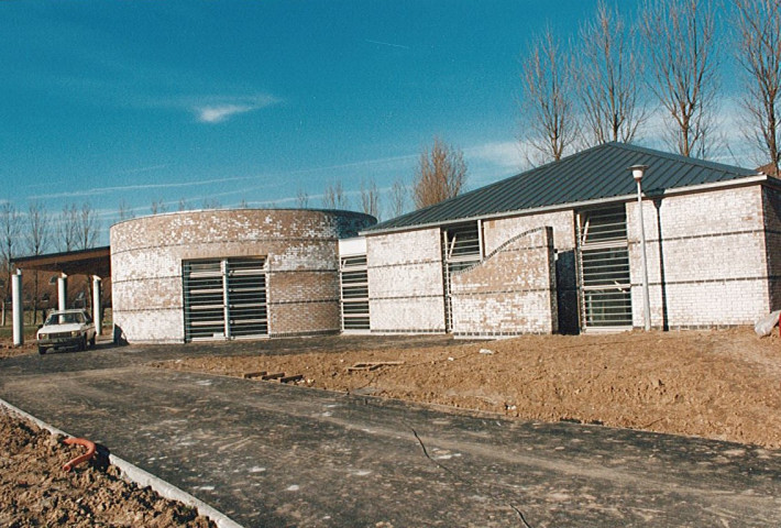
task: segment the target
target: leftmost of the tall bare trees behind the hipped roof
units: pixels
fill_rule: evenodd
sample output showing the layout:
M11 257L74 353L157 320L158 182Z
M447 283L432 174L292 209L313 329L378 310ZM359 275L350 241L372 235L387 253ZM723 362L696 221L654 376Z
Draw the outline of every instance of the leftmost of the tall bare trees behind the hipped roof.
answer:
M520 142L537 154L530 163L561 160L578 138L569 56L547 28L521 63Z

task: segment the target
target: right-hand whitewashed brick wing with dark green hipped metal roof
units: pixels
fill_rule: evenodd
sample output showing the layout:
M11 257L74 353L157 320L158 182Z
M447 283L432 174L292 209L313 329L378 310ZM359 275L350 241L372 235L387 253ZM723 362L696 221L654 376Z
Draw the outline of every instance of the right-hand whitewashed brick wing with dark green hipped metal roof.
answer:
M365 230L372 332L751 324L781 305L781 182L601 145Z

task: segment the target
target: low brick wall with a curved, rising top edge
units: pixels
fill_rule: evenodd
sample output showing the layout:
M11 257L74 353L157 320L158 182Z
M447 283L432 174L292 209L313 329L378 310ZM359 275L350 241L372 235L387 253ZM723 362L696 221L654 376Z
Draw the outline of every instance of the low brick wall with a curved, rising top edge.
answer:
M454 273L451 294L455 336L556 332L553 229L521 233Z

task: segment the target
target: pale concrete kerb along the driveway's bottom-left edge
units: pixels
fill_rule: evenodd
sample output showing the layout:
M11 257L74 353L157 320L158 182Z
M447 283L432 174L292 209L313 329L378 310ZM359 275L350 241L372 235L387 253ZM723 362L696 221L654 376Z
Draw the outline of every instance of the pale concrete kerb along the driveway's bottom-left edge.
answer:
M68 435L62 429L57 429L56 427L46 424L43 420L40 420L33 415L25 413L22 409L9 404L2 398L0 398L0 405L10 410L11 413L14 413L23 417L24 419L32 421L40 428L46 429L53 435L64 435L66 437L73 436ZM152 473L148 473L142 470L141 468L131 464L127 460L123 460L113 454L109 454L109 462L119 468L119 470L129 481L134 482L135 484L142 487L150 486L164 498L179 501L186 504L187 506L196 508L198 510L198 514L209 517L211 520L215 521L215 524L217 524L219 528L243 528L240 524L228 517L222 512L215 509L213 507L209 506L199 498L194 497L189 493L179 490L175 485L153 475Z

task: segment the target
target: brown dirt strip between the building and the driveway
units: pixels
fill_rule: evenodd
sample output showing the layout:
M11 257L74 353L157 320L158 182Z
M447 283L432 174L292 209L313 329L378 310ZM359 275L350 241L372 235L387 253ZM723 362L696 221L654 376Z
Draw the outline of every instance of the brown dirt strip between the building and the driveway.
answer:
M350 370L361 362L403 362ZM155 366L301 375L309 387L781 448L781 340L751 328L538 336L421 349L201 358ZM248 382L272 383L272 382Z

